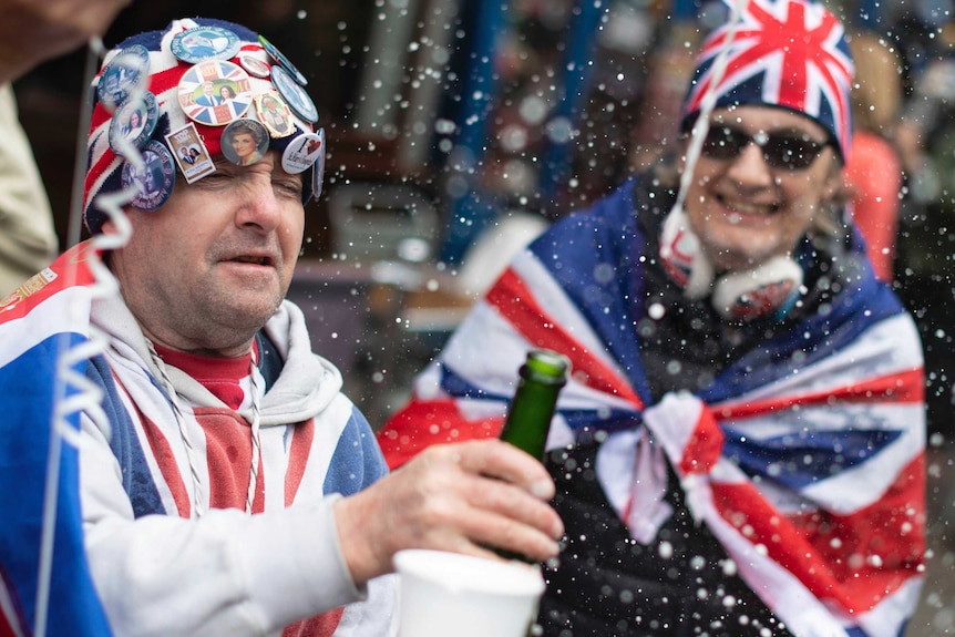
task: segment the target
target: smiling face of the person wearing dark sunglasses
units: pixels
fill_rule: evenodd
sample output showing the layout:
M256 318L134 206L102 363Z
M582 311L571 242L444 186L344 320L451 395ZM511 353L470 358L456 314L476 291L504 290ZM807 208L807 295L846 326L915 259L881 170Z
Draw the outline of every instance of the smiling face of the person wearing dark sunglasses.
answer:
M842 155L831 137L818 121L783 109L739 105L712 113L687 189L685 229L696 234L716 273L790 257L808 230L836 222Z

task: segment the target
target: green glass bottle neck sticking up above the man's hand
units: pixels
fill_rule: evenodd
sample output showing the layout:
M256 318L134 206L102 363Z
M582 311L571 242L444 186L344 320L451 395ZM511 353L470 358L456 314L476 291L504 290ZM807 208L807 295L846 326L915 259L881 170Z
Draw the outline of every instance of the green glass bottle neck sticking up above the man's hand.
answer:
M555 351L534 349L527 352L501 440L543 460L557 394L567 382L569 367L567 358Z

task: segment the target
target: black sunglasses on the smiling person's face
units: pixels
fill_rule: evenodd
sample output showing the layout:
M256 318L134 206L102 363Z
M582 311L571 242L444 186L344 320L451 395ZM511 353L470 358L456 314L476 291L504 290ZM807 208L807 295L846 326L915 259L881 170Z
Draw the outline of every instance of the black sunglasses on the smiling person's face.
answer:
M773 168L804 171L819 158L831 142L817 142L804 135L757 133L726 125L710 126L704 140L702 154L711 160L732 160L752 142L762 150L763 160Z

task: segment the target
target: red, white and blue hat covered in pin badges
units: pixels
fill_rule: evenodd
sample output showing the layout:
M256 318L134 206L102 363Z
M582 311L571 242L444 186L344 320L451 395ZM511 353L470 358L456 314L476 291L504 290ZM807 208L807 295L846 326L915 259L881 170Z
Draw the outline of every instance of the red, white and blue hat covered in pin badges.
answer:
M156 209L175 187L176 172L193 183L215 172L217 157L245 165L269 150L283 155L290 145L314 140L320 132L315 126L318 111L285 60L249 29L203 18L175 20L163 31L120 43L94 80L83 201L89 230L100 233L106 219L95 203L101 193L136 184L142 194L131 205ZM287 104L280 122L273 112L263 121L263 95ZM237 135L240 131L261 132L255 135L254 154L239 148L246 141L244 133ZM135 169L124 152L138 152L150 171ZM324 150L321 155L304 171L324 167ZM302 175L304 203L317 191L314 177Z

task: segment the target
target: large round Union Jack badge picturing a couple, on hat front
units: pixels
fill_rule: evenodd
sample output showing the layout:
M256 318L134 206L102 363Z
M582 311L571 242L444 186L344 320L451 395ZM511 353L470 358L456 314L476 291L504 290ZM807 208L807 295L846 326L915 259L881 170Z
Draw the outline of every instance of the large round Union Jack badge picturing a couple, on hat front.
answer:
M194 122L225 126L245 115L251 105L250 82L238 64L225 60L201 62L179 80L179 106Z

